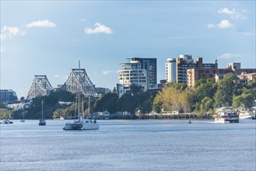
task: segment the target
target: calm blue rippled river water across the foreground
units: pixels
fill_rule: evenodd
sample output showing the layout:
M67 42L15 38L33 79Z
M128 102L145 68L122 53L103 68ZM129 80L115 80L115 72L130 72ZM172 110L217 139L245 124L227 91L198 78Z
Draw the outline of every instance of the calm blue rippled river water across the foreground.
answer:
M256 170L255 120L99 120L96 131L13 121L0 124L1 171Z

